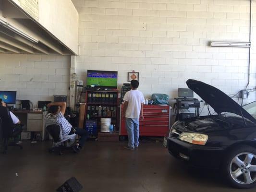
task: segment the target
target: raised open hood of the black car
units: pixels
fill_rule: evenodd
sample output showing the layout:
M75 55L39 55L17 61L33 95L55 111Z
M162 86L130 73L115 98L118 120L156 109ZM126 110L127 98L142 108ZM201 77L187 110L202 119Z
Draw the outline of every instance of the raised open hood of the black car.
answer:
M241 113L243 113L244 118L256 122L256 119L244 110L244 108L216 87L194 79L187 80L186 84L207 104L209 104L216 113L220 114L222 112L231 112L240 116L242 116Z

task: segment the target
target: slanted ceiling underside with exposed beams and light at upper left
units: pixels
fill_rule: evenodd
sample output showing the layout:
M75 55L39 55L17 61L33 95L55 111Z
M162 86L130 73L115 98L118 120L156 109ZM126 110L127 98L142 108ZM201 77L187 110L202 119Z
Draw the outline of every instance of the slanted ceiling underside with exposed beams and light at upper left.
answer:
M8 0L0 0L0 53L75 55Z

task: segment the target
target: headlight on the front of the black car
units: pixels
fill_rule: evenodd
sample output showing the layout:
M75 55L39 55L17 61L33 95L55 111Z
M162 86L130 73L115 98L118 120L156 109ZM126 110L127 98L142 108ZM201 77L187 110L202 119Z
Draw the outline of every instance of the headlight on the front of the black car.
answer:
M178 138L191 144L205 145L208 140L208 135L194 132L183 132Z

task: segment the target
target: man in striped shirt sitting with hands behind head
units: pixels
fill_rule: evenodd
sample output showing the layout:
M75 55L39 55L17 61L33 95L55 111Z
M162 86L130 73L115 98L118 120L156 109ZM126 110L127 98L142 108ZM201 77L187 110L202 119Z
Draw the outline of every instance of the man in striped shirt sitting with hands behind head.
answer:
M49 108L48 114L44 116L46 126L52 124L58 124L61 126L62 135L80 135L79 142L73 146L74 152L78 153L79 148L81 149L87 139L87 132L84 129L75 129L64 117L66 110L66 102L54 102L47 105Z

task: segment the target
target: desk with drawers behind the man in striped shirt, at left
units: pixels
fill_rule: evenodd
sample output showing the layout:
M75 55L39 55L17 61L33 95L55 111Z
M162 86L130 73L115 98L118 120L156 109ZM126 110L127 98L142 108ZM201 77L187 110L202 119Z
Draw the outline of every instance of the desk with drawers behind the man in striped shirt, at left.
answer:
M19 117L21 122L26 125L27 132L42 132L42 141L45 138L45 122L44 116L46 112L42 111L12 111L14 115Z

